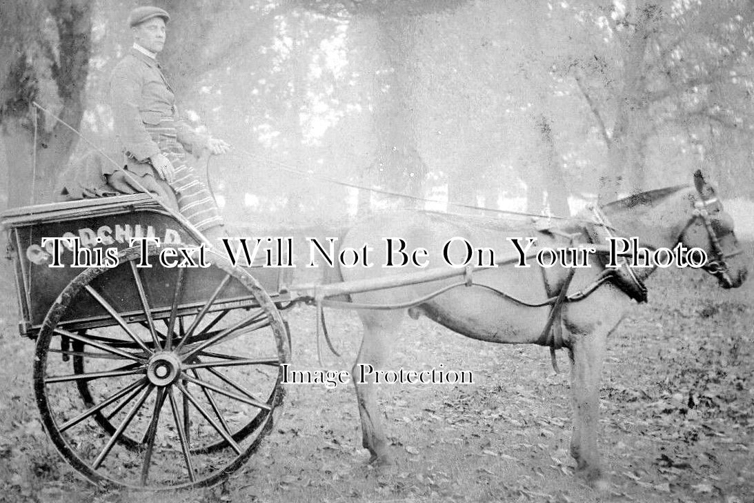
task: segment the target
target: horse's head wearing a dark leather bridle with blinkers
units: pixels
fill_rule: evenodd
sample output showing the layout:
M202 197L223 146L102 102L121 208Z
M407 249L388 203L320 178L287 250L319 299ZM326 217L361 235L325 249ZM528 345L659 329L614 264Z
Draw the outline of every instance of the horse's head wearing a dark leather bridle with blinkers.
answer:
M741 253L733 232L733 219L722 209L715 189L704 180L700 170L694 173L694 187L696 192L690 194L691 213L679 241L706 252L703 269L715 276L721 287L740 287L748 271L743 262L734 268L729 265L728 259Z

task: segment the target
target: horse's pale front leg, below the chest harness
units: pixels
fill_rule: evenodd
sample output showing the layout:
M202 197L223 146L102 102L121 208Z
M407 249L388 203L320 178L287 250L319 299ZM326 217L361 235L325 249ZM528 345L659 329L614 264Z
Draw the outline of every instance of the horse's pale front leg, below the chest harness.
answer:
M602 462L597 448L599 437L599 374L605 354L607 330L575 336L569 351L571 357L571 397L573 404L573 436L571 455L577 471L596 489L605 489Z

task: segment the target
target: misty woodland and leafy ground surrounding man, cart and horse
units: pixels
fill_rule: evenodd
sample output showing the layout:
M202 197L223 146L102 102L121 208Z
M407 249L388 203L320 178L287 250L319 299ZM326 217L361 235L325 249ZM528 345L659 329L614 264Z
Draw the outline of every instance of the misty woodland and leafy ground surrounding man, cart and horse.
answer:
M701 168L739 210L751 263L750 0L152 2L172 16L161 60L182 111L234 146L210 166L227 219L326 233L410 204L314 176L443 201L439 209L463 210L451 201L564 214L691 182ZM130 47L125 20L136 5L0 0L0 207L48 201L69 159L90 148L33 101L115 150L108 78ZM546 350L419 321L396 334L392 363L462 364L478 385L382 390L399 453L391 470L366 465L351 388L299 387L228 483L144 495L100 492L54 451L3 260L0 347L12 357L0 368L0 501L749 503L754 283L722 292L694 272L658 271L649 304L634 305L611 334L606 494L573 475L568 376L553 375ZM290 314L293 360L304 368L316 365L314 320L305 306ZM356 314L331 320L344 357L328 364L350 368Z

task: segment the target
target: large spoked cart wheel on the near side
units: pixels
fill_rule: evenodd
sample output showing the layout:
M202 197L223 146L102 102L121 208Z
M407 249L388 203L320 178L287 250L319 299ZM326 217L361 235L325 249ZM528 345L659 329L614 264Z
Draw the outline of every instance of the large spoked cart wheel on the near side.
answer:
M88 268L48 311L36 401L61 455L94 483L217 483L280 413L290 360L284 321L247 271L207 256L208 268L138 268L139 250L124 250L117 268ZM100 316L86 332L66 330L66 313L84 302ZM49 354L63 337L74 342L73 373Z

